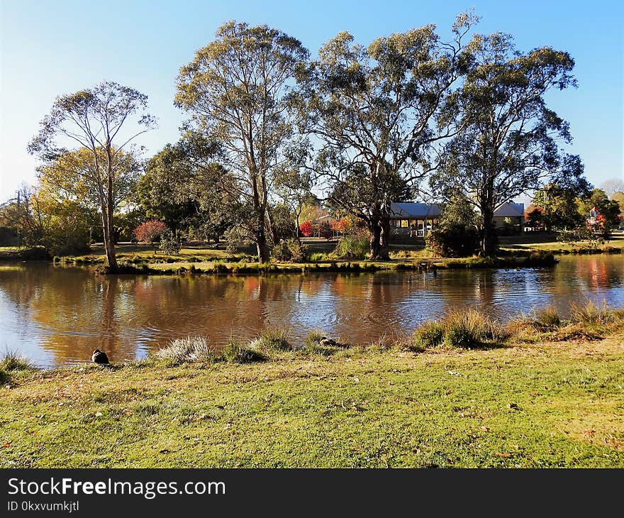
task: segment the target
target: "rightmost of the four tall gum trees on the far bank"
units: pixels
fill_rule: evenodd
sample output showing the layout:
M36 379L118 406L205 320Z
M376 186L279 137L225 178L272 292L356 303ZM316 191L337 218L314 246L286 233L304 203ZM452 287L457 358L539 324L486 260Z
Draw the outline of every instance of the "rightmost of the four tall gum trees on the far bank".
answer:
M548 47L520 53L510 35L494 33L474 38L466 65L454 104L462 131L445 145L430 187L445 199L472 200L481 214L481 254L492 255L498 206L544 181L571 190L587 184L580 158L558 145L572 139L568 123L545 101L576 84L574 60Z

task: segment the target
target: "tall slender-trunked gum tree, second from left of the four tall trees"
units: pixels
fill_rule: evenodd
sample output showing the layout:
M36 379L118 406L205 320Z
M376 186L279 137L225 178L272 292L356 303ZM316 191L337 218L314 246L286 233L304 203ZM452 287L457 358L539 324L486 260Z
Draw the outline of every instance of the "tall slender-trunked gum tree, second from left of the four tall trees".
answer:
M267 213L277 180L305 158L289 153L296 146L284 90L307 58L301 42L285 33L230 21L179 73L175 104L191 115L185 155L204 183L227 186L221 208L255 241L259 263L269 261ZM215 161L221 171L206 170Z

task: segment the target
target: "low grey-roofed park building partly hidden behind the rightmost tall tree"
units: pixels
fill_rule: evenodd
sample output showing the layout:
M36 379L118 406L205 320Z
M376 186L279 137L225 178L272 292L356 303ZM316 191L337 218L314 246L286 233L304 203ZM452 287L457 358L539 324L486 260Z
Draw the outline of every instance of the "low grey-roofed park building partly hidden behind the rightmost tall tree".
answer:
M425 237L438 226L440 206L426 203L392 203L390 224L394 233ZM520 233L524 224L524 204L505 203L494 211L494 226L504 233Z

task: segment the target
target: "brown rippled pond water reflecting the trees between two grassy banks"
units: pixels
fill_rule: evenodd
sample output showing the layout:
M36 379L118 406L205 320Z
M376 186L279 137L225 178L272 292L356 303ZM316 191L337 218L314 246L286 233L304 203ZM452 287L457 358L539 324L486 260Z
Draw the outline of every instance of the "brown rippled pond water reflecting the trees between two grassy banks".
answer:
M96 276L89 268L0 263L0 353L40 366L141 358L171 338L250 337L287 327L295 341L321 328L365 343L406 333L454 307L508 319L585 297L624 305L621 255L570 256L554 268L321 273L241 277Z

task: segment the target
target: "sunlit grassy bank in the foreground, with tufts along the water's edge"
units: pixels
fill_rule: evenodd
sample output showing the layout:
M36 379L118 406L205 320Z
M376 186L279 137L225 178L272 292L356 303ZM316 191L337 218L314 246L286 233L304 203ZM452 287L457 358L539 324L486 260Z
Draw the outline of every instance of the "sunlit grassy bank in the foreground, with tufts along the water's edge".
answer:
M267 333L216 356L183 340L111 368L4 365L0 465L624 467L622 310L530 314L503 334L442 324L424 348L422 330L351 347Z

